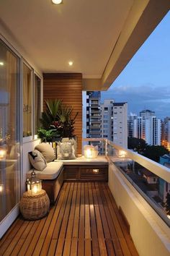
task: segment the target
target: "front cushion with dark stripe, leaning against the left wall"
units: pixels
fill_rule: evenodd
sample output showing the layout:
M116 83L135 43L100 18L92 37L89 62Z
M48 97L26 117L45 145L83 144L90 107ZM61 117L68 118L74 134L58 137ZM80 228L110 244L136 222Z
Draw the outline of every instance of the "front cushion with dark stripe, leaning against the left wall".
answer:
M38 150L33 150L29 152L28 155L31 164L35 169L42 171L47 166L45 158Z

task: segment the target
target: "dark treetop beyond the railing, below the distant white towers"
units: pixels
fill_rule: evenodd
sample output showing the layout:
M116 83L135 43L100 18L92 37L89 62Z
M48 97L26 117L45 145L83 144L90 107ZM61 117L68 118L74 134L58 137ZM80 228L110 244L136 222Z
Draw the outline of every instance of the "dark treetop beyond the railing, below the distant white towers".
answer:
M128 148L137 151L140 154L143 154L144 150L146 150L147 143L143 139L138 139L135 137L128 137Z

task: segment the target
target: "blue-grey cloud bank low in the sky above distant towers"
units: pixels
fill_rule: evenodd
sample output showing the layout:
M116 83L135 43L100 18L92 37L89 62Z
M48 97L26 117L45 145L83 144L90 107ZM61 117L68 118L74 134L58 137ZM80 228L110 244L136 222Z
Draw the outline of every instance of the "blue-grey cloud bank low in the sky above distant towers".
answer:
M156 116L170 116L170 86L155 87L152 84L112 86L107 92L102 92L102 100L115 99L116 102L128 102L128 112L139 114L143 109L151 109Z

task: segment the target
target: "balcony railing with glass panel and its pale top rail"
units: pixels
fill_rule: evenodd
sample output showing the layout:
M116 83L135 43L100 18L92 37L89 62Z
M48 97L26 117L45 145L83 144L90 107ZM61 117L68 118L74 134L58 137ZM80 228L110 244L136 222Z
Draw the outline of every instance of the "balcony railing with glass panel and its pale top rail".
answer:
M170 226L168 213L170 205L166 197L170 190L170 168L104 138L83 141L86 144L97 145L99 155L105 155L151 205L158 216Z

